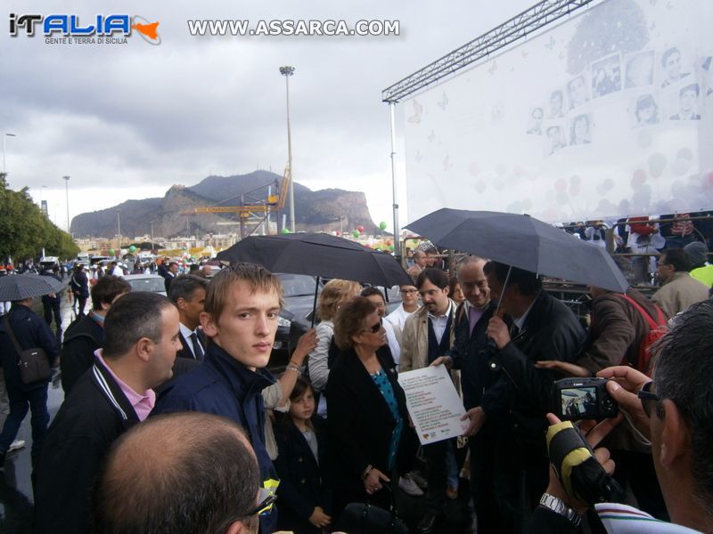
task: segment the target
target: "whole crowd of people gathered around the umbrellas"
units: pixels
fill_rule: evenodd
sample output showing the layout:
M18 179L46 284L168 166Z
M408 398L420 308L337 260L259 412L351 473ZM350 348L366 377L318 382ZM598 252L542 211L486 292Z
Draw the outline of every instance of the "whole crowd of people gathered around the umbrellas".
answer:
M651 531L677 528L668 521L709 531L713 301L692 257L664 250L652 299L589 287L586 330L536 273L465 256L449 277L437 251L417 250L413 284L390 313L379 288L329 280L317 327L277 376L267 366L282 286L263 267L208 279L168 262L164 297L113 274L90 284L78 265L80 313L61 336L32 299L0 323L0 461L31 409L37 532L348 532L345 510L365 502L397 514L411 502L419 534L596 532L612 508L568 491L545 433L559 423L556 379L604 376L627 417L586 437L593 447L603 438L595 457L625 489L611 506ZM11 328L23 350L59 360L65 399L51 424L48 380L22 383ZM438 365L468 428L420 445L397 377ZM594 409L591 396L582 402ZM454 525L456 501L464 519Z

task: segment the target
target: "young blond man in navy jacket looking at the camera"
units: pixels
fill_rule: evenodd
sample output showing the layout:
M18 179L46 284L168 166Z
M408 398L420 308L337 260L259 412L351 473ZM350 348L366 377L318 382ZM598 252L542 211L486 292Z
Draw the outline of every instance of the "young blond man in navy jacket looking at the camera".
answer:
M163 393L156 413L202 411L233 419L245 429L260 467L261 487L277 476L265 448L266 415L260 392L275 383L270 360L283 304L280 279L253 263L231 265L211 280L201 313L209 337L205 360ZM274 532L275 506L260 515L260 531Z

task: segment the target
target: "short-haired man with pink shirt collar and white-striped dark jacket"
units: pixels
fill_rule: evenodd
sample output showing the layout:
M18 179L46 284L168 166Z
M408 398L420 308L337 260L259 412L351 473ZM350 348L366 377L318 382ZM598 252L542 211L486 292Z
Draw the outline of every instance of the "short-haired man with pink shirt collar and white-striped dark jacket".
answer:
M156 293L129 293L104 320L104 348L62 403L45 438L35 482L36 531L90 531L90 490L121 433L149 416L152 388L172 375L178 311Z

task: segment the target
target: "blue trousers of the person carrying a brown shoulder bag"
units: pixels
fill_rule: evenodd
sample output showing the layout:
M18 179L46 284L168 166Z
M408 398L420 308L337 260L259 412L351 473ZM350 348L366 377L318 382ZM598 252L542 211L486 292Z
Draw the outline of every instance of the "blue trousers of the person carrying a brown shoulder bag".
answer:
M34 464L42 450L42 442L45 441L47 425L50 422L50 414L47 411L47 384L29 392L7 384L7 397L10 401L10 414L5 419L3 432L0 433L0 453L5 454L7 449L10 449L10 444L17 437L22 421L28 415L28 409L31 409L32 417L29 422L32 425L31 456Z

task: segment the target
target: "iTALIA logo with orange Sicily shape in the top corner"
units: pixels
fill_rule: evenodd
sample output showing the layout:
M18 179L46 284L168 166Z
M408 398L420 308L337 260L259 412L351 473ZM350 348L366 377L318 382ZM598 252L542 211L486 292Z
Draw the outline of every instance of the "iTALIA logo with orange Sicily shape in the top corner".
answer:
M111 14L95 15L91 20L79 20L74 14L29 14L10 13L10 36L35 36L39 29L45 37L94 38L102 43L105 38L126 39L133 30L148 44L160 44L160 22L151 22L141 15Z

